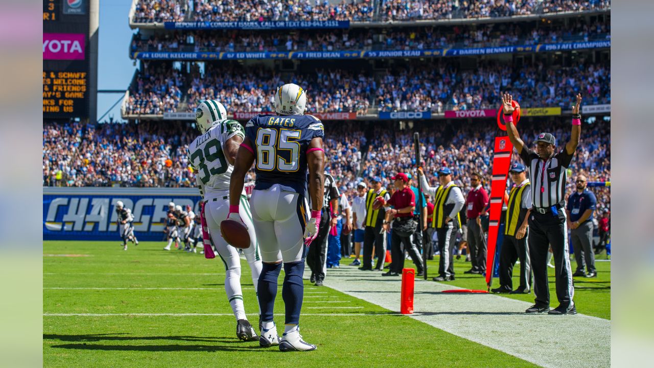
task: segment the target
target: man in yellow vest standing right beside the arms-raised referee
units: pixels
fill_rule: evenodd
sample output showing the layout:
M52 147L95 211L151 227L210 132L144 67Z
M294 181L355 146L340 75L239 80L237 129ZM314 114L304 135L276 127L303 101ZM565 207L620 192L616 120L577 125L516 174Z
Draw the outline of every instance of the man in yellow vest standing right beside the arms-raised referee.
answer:
M515 162L509 170L515 184L509 193L504 218L504 240L500 251L500 287L493 293L528 294L531 291L532 270L527 237L528 218L532 208L531 183L526 178L525 165ZM513 290L513 265L520 259L520 286Z

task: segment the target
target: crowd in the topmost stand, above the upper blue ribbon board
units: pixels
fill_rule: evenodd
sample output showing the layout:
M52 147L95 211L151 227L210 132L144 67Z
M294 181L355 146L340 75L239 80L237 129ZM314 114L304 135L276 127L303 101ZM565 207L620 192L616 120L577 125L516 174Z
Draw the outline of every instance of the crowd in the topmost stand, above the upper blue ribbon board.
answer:
M375 16L375 6L379 15ZM439 20L609 9L610 0L139 0L133 21L181 22L190 13L193 21L350 20L353 22Z

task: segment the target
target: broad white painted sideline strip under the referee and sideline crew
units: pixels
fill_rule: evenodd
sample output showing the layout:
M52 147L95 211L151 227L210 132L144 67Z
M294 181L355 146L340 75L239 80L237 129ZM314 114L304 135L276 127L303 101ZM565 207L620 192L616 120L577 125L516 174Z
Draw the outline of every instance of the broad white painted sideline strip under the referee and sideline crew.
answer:
M479 278L480 288L483 284ZM345 266L330 270L324 285L388 310L400 310L398 277L388 280L381 272ZM532 303L490 294L441 293L446 289L457 287L417 280L416 313L410 317L543 367L610 367L610 320L583 314L530 315L525 309ZM552 306L557 306L555 294L551 299Z

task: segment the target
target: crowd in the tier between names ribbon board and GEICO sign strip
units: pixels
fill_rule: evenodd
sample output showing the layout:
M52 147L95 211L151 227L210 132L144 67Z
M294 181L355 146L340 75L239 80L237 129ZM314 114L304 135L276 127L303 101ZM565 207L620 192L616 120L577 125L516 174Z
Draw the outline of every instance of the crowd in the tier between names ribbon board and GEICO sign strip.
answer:
M204 75L197 66L189 74L161 66L154 69L145 67L137 77L125 103L128 115L176 111L182 89L186 89L188 112L207 99L222 101L229 111L266 111L272 105L270 92L284 83L309 86L307 111L315 113L365 115L371 105L379 111L434 113L486 109L493 108L505 90L533 107L570 107L577 90L583 90L586 105L611 101L610 68L591 63L553 68L538 62L514 70L489 61L460 70L449 60L440 60L429 66L407 63L375 75L341 69L282 75L261 66L235 64L208 64Z

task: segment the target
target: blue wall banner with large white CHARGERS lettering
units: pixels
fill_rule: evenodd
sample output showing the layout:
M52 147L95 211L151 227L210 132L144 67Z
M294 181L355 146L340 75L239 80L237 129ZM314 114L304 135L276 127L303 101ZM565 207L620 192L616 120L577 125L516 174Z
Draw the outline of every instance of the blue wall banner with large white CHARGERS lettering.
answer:
M184 210L191 206L199 212L199 196L186 197L103 197L103 196L43 196L44 232L114 232L116 224L116 202L134 215L134 230L141 232L163 231L168 203L175 202Z

